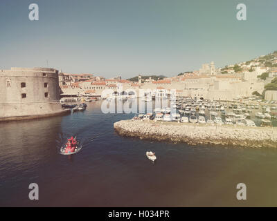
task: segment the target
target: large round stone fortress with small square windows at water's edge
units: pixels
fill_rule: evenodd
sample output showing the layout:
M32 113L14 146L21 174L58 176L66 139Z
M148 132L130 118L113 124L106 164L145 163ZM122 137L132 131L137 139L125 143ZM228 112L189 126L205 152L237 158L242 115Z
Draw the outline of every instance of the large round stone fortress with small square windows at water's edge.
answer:
M0 70L0 122L69 113L60 104L58 70Z

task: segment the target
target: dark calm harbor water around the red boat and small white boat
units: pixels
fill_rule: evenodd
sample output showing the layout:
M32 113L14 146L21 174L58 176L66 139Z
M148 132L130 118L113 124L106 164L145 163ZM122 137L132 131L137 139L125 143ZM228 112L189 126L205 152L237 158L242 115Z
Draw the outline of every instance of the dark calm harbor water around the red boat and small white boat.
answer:
M277 149L167 144L120 137L101 102L64 117L0 124L0 206L277 206ZM77 135L71 157L59 147ZM157 153L152 164L146 151ZM39 200L28 200L28 185ZM236 200L236 185L247 200Z

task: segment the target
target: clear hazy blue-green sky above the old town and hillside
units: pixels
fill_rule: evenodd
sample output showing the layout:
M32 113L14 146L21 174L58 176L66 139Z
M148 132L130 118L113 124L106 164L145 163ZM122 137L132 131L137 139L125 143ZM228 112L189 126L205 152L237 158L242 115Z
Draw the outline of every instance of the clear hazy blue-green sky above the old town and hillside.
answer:
M276 9L277 0L1 0L0 69L129 78L223 67L277 50Z

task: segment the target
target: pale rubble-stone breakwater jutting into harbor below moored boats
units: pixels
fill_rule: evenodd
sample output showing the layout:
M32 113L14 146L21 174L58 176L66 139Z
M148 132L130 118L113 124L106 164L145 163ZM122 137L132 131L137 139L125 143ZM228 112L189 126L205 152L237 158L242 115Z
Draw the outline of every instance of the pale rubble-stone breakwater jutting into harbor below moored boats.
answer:
M125 137L159 142L251 148L277 147L277 128L121 120L114 123L114 130Z

